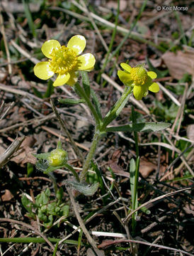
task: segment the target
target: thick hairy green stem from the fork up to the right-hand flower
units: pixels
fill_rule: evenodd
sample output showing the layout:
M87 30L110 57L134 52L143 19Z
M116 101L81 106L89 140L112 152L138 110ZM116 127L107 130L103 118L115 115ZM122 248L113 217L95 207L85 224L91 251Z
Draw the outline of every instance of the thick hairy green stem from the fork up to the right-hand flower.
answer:
M118 114L120 114L120 111L123 107L125 107L125 104L127 103L128 98L130 97L130 92L132 91L132 87L125 86L124 92L122 92L122 95L118 102L113 106L113 108L106 114L105 118L103 119L103 125L101 127L101 131L105 131L105 128L107 127L110 122L113 121L116 117L118 117Z

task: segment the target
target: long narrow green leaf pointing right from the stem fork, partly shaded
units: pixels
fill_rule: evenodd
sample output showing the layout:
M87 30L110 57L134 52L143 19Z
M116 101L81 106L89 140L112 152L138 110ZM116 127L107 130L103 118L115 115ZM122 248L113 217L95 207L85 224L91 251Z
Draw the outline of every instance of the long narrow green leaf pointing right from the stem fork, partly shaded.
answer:
M170 126L171 124L167 122L125 124L117 127L108 127L106 132L158 132Z

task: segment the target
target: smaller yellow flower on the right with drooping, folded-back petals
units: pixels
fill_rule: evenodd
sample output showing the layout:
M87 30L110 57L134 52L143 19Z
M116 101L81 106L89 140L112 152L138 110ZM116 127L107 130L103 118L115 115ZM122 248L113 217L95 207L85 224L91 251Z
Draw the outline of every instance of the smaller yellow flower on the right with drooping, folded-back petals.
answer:
M142 97L147 96L148 90L159 92L159 85L152 81L157 77L156 73L147 72L143 66L132 68L127 63L120 65L124 71L118 70L118 77L124 85L133 87L133 95L137 100L142 100Z

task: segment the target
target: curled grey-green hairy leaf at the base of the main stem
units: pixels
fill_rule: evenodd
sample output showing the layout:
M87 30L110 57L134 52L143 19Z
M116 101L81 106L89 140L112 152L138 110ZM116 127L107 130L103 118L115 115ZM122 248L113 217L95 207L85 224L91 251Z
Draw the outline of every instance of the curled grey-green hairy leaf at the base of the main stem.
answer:
M93 194L96 193L98 189L98 183L93 183L91 185L86 183L79 183L77 181L68 181L67 183L75 188L76 191L83 193L84 196L93 196Z

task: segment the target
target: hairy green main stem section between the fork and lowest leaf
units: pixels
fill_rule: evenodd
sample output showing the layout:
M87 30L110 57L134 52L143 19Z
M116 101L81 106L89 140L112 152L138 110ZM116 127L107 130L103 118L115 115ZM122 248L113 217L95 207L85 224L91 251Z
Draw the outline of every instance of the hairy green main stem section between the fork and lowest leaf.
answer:
M86 157L86 161L84 162L83 170L81 171L81 174L79 176L80 182L84 182L84 180L85 180L87 171L90 168L91 159L93 159L93 155L96 152L96 147L97 147L100 139L101 139L101 132L96 130L95 134L93 135L93 141L91 143L91 148L90 148L89 154Z

